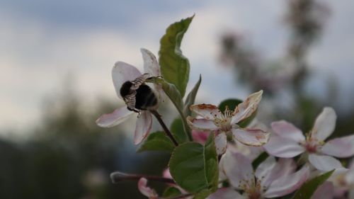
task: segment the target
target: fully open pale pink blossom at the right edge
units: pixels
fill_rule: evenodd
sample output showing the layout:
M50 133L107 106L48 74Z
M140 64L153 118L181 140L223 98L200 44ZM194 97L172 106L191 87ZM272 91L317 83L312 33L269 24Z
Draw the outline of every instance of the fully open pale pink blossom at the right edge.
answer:
M333 157L353 156L354 135L325 142L336 126L336 117L333 108L324 108L307 137L291 123L284 120L274 122L272 129L275 134L263 147L275 157L291 158L306 153L309 162L321 171L343 170L341 162Z

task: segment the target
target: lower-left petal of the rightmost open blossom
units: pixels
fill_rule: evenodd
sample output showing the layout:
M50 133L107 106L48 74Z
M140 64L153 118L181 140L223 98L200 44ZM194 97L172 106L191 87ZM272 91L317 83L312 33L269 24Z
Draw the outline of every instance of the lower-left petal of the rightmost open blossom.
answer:
M283 158L296 157L305 151L304 147L299 143L280 136L270 137L268 143L263 145L263 148L268 154Z

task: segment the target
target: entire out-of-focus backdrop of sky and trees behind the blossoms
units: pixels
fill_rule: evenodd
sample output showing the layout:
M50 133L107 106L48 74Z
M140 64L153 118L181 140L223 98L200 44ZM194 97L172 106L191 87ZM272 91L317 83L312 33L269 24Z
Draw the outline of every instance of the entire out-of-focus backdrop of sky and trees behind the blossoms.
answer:
M157 55L168 25L194 13L182 50L189 89L202 74L199 103L263 89L258 118L266 125L283 118L306 132L321 108L332 106L333 137L353 133L353 6L0 0L0 198L144 198L136 182L112 184L109 174L161 175L169 154L136 154L134 117L110 129L95 120L122 106L113 64L142 69L139 48ZM173 110L169 103L161 114L166 110Z

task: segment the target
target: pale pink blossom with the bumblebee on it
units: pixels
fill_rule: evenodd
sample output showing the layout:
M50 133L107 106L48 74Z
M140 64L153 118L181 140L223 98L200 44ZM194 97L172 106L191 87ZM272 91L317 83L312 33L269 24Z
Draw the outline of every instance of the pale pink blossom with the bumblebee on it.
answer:
M135 108L135 102L137 102L137 99L135 98L137 95L137 89L142 85L147 86L144 84L144 80L148 77L160 76L159 64L156 57L149 50L142 48L140 51L142 52L142 57L144 59L145 74L141 74L136 67L125 62L116 62L112 69L112 79L117 96L124 100L127 106L117 108L113 113L101 115L101 117L96 120L97 125L100 127L113 127L125 121L128 116L134 112L139 112L135 127L135 144L142 142L152 128L152 114L149 113L149 110L137 110L137 108ZM128 88L124 88L128 89L130 92L129 95L121 96L123 89L122 85L127 83L127 81L133 82L134 84ZM145 89L149 88L145 87ZM134 112L130 110L133 110Z

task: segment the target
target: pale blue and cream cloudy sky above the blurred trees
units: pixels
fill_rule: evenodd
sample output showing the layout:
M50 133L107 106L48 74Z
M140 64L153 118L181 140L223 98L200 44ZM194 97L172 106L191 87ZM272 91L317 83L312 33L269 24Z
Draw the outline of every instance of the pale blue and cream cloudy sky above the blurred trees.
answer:
M331 16L310 61L319 76L339 77L342 96L353 96L354 2L326 4ZM166 27L193 13L182 50L190 59L190 84L203 76L198 100L244 98L249 91L235 86L231 70L218 62L220 35L237 30L263 57L279 57L289 36L285 11L283 0L0 1L0 130L38 123L43 97L58 92L69 74L84 103L98 96L114 100L113 64L142 68L139 48L157 54ZM314 90L321 84L314 82Z

